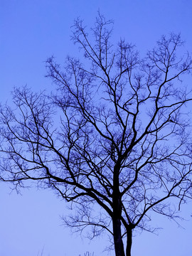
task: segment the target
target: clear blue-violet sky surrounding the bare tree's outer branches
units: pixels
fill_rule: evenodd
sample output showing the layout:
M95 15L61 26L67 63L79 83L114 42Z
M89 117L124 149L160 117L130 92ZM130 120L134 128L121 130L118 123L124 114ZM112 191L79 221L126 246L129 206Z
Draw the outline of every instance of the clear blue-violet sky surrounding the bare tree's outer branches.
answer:
M66 55L78 54L70 41L70 26L80 16L90 26L97 11L114 20L115 40L120 37L146 53L162 34L179 33L192 53L192 1L188 0L0 0L0 100L11 102L14 86L51 90L45 78L45 61L55 55L59 63ZM191 77L183 83L191 87ZM60 216L66 204L53 191L31 188L22 196L0 183L0 256L79 256L102 252L104 236L92 242L71 235ZM143 232L133 239L132 255L189 256L192 253L192 204L183 206L187 221L178 228L166 218L154 216L164 228L159 235ZM111 254L113 255L113 253Z

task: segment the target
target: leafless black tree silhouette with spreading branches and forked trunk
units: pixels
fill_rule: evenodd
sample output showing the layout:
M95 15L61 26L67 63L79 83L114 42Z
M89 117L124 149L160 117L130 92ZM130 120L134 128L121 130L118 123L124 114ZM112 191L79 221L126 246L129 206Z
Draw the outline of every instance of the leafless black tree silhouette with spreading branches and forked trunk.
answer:
M90 227L90 238L107 230L115 255L130 256L134 229L153 232L152 212L174 219L191 198L192 99L181 77L192 62L179 35L140 58L124 40L112 45L102 15L90 33L75 21L83 63L47 60L51 97L16 89L15 110L1 107L1 181L53 188L76 207L67 225Z

